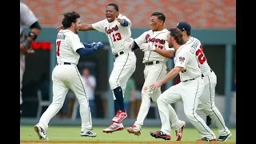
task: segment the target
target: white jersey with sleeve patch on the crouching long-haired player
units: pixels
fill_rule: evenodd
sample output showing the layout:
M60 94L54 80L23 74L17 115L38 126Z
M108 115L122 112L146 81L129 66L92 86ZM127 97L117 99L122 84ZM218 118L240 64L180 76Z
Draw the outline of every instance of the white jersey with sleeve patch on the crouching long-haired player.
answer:
M194 51L190 50L188 45L182 45L176 51L176 57L174 58L175 67L179 66L184 68L179 73L181 81L186 81L193 78L202 76L201 70L198 66L198 60L194 56Z

